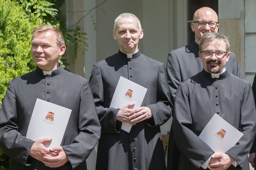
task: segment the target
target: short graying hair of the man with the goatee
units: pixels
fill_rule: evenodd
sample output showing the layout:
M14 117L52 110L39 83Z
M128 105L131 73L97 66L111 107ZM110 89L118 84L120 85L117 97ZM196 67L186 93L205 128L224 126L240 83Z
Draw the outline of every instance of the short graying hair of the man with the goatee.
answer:
M218 32L206 32L203 34L202 38L199 41L199 51L202 51L202 47L209 43L209 42L215 42L216 45L220 44L220 40L223 40L226 45L226 51L229 52L229 40L223 33Z

